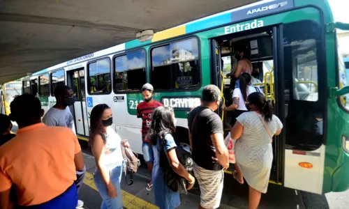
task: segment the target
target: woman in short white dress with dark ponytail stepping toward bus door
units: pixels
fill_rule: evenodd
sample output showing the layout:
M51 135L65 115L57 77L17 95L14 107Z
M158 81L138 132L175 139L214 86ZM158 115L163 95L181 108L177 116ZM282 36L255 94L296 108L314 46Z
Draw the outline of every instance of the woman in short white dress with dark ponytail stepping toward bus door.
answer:
M255 209L260 203L261 193L267 192L272 169L272 137L279 135L283 124L273 114L272 104L262 93L251 93L246 100L248 111L237 117L230 132L235 144L236 171L233 176L249 186L248 208Z

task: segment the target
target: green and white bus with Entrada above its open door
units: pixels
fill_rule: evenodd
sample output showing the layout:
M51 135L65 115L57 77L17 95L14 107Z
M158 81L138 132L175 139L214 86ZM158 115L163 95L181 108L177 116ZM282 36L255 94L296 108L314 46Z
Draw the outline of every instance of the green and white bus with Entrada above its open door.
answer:
M79 139L89 136L91 109L108 104L117 133L142 154L142 85L153 84L155 99L175 109L177 134L188 143L188 111L200 104L204 86L229 88L225 75L235 69L236 46L244 45L284 125L273 141L270 182L340 192L349 187L349 87L336 28L349 29L334 22L326 0L260 1L52 66L24 79L23 91L48 108L57 85L72 86Z

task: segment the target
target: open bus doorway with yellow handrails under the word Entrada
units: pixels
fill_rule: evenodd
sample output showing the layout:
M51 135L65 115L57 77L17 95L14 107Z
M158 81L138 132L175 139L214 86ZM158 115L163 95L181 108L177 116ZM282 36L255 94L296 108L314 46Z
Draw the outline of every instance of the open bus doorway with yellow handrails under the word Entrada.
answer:
M230 66L232 68L231 71L234 71L233 69L235 68L235 62L232 61L232 54L233 54L233 48L235 45L252 45L253 47L258 47L257 54L253 54L251 56L251 61L252 63L262 65L262 63L269 63L271 68L267 69L260 69L260 72L265 72L264 75L267 74L267 76L263 77L265 80L264 84L262 84L262 88L264 87L266 91L266 98L267 100L271 101L272 104L274 105L274 114L278 116L281 121L284 121L283 118L283 98L279 96L279 91L277 88L281 88L281 85L279 82L279 85L275 84L274 82L277 83L280 79L282 80L283 75L279 73L280 69L283 69L281 66L282 59L281 59L281 52L282 50L282 34L280 32L280 27L279 26L274 26L274 27L268 27L268 28L263 28L263 29L258 29L258 30L251 30L251 31L246 31L245 33L240 33L240 34L234 34L234 35L228 35L224 37L219 37L216 38L215 40L210 40L211 43L211 84L215 84L218 86L221 91L225 91L225 86L224 85L224 79L223 79L223 64L221 57L222 55L222 50L221 48L227 47L226 45L228 44L230 49L225 49L224 51L224 57L230 56ZM258 44L257 44L258 43ZM255 48L251 49L256 51ZM274 72L273 72L274 69ZM276 75L278 77L273 77L273 75ZM279 75L281 77L279 77ZM227 87L230 86L230 84L226 84ZM223 88L222 88L223 87ZM230 90L230 88L227 88ZM231 93L225 93L225 99L231 98ZM227 114L228 113L228 114ZM231 117L229 112L225 112L224 114L221 112L221 109L218 109L218 114L220 114L221 117L223 117L223 124L225 126L225 134L231 130L230 125L227 125L225 122L228 122ZM227 115L225 115L227 114ZM274 137L273 140L273 155L274 155L274 160L272 162L272 171L271 171L271 176L270 180L272 183L277 183L279 185L283 184L283 163L284 163L284 158L283 158L283 151L284 151L284 141L285 141L285 134L281 134L280 136ZM232 166L230 166L230 171L232 170Z

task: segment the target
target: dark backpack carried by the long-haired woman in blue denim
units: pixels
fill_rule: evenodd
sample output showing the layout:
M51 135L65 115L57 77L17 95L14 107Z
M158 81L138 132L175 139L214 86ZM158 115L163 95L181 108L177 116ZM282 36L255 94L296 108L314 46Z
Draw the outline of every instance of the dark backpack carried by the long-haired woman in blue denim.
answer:
M163 180L165 185L167 185L173 192L184 192L188 194L186 188L188 187L188 181L179 176L176 172L172 170L170 164L168 162L168 158L166 156L165 150L163 150L163 145L165 144L165 137L161 139L160 146L160 166L163 169ZM193 158L191 157L191 153L185 150L180 144L177 143L176 153L179 162L183 165L183 167L193 175Z

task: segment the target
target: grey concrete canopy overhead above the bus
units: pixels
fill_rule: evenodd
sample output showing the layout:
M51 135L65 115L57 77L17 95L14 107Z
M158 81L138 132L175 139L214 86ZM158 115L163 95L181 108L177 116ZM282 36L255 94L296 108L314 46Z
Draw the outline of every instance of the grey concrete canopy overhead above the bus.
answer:
M3 0L0 84L258 0Z

